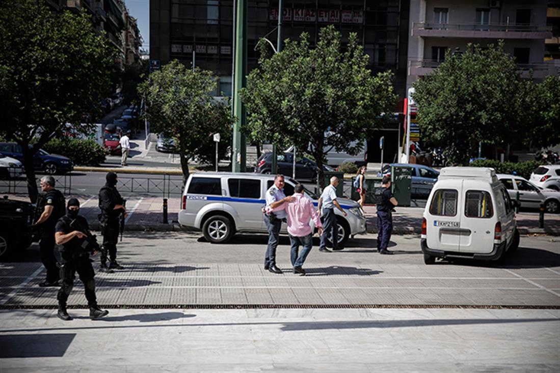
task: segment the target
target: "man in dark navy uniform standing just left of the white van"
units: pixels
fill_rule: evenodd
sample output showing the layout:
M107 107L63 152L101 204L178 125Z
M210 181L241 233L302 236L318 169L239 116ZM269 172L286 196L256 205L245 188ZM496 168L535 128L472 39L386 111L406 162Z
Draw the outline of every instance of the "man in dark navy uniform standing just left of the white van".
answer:
M383 177L380 190L375 191L375 198L377 204L377 252L393 254L387 247L391 239L391 233L393 233L393 209L399 202L391 192L390 176Z

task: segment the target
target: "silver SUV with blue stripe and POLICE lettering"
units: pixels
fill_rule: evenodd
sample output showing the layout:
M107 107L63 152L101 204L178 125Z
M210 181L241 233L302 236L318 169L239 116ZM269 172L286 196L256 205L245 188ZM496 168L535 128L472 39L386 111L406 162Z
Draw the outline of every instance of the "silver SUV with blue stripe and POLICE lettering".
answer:
M262 207L265 193L274 183L274 175L251 173L205 172L190 174L186 181L179 223L202 230L212 243L224 243L237 232L266 233ZM291 196L297 181L286 178L284 194ZM312 193L304 191L314 205ZM347 216L335 210L338 219L338 242L366 232L366 218L355 201L339 198ZM310 223L312 224L312 222ZM281 233L286 234L286 224Z

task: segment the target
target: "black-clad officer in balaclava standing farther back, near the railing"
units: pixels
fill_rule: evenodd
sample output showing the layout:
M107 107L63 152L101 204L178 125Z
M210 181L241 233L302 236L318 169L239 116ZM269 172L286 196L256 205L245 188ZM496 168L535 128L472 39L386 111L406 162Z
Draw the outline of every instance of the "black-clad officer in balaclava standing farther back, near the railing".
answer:
M99 222L101 223L101 233L103 234L103 250L101 251L102 272L113 272L112 270L122 270L124 267L116 262L116 242L119 238L120 214L126 216L126 209L123 205L123 198L116 190L116 173L109 172L105 177L107 181L99 191ZM110 263L107 266L107 251L109 251Z

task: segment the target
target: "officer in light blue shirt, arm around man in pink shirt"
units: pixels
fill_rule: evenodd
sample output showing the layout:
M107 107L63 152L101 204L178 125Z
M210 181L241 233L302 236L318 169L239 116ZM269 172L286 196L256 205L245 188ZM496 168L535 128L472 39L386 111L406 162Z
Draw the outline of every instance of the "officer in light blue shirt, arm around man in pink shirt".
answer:
M274 177L274 185L267 190L266 194L266 214L264 215L264 223L268 230L267 253L264 257L264 269L272 273L282 273L280 268L276 266L276 247L280 237L280 228L282 221L286 221L286 203L292 202L294 197L286 197L284 195L284 176L276 175Z

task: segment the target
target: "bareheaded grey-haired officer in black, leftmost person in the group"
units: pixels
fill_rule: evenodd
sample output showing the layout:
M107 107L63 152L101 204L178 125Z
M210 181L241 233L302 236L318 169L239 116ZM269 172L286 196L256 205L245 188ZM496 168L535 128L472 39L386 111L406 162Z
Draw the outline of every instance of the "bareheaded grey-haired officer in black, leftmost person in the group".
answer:
M48 175L41 178L41 190L44 194L37 200L36 211L39 218L35 221L34 228L40 230L41 240L39 248L41 261L46 268L46 278L39 282L39 286L58 286L59 270L57 259L54 256L54 226L57 220L64 215L66 200L64 195L54 188L54 177Z

